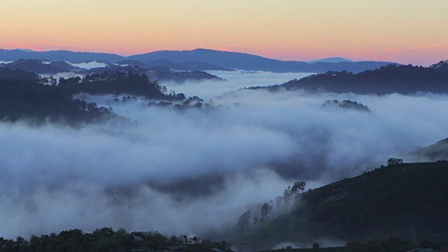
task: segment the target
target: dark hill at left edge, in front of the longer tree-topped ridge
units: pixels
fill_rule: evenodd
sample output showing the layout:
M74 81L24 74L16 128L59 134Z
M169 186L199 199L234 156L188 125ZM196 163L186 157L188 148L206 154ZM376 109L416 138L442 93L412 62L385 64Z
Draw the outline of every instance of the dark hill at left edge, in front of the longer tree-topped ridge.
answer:
M0 120L26 119L34 123L50 120L74 126L106 118L118 117L103 107L97 108L97 104L73 100L57 86L43 85L36 80L0 78Z

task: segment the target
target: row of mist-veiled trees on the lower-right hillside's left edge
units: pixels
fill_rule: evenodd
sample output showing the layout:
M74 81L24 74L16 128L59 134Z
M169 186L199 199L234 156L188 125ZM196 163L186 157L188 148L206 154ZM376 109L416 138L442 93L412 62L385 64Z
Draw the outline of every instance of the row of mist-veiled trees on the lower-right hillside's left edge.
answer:
M304 181L296 181L292 187L288 186L288 188L283 190L283 196L277 196L275 200L262 204L260 218L254 216L252 220L251 210L244 212L237 221L237 229L240 235L251 235L251 233L257 232L259 226L269 223L269 220L274 218L274 204L276 216L290 210L294 202L300 200L300 191L302 191L303 195L305 186L307 186L307 183ZM253 225L251 226L251 224Z

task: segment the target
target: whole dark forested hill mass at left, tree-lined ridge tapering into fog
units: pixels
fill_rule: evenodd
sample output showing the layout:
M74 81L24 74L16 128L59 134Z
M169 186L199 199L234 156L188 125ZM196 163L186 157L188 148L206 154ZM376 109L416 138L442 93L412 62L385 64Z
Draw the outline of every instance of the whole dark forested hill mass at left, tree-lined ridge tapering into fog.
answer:
M83 78L40 77L22 70L0 68L0 120L32 119L65 121L69 124L96 122L104 118L120 118L97 104L73 99L73 94L133 94L171 104L202 107L199 97L189 97L160 85L157 80L137 73L94 73ZM162 104L160 104L162 105ZM172 104L171 104L172 105ZM172 105L174 106L174 105ZM125 120L125 118L120 118Z

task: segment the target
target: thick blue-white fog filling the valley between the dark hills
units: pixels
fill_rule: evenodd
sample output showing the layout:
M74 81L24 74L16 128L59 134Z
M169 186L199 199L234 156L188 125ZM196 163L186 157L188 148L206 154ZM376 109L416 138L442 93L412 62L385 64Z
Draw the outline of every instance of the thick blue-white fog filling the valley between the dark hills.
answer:
M232 92L300 74L214 74L228 81L162 83L214 109L83 95L138 123L0 123L0 237L111 226L207 238L294 181L323 186L447 137L446 95ZM326 99L371 113L323 109Z

